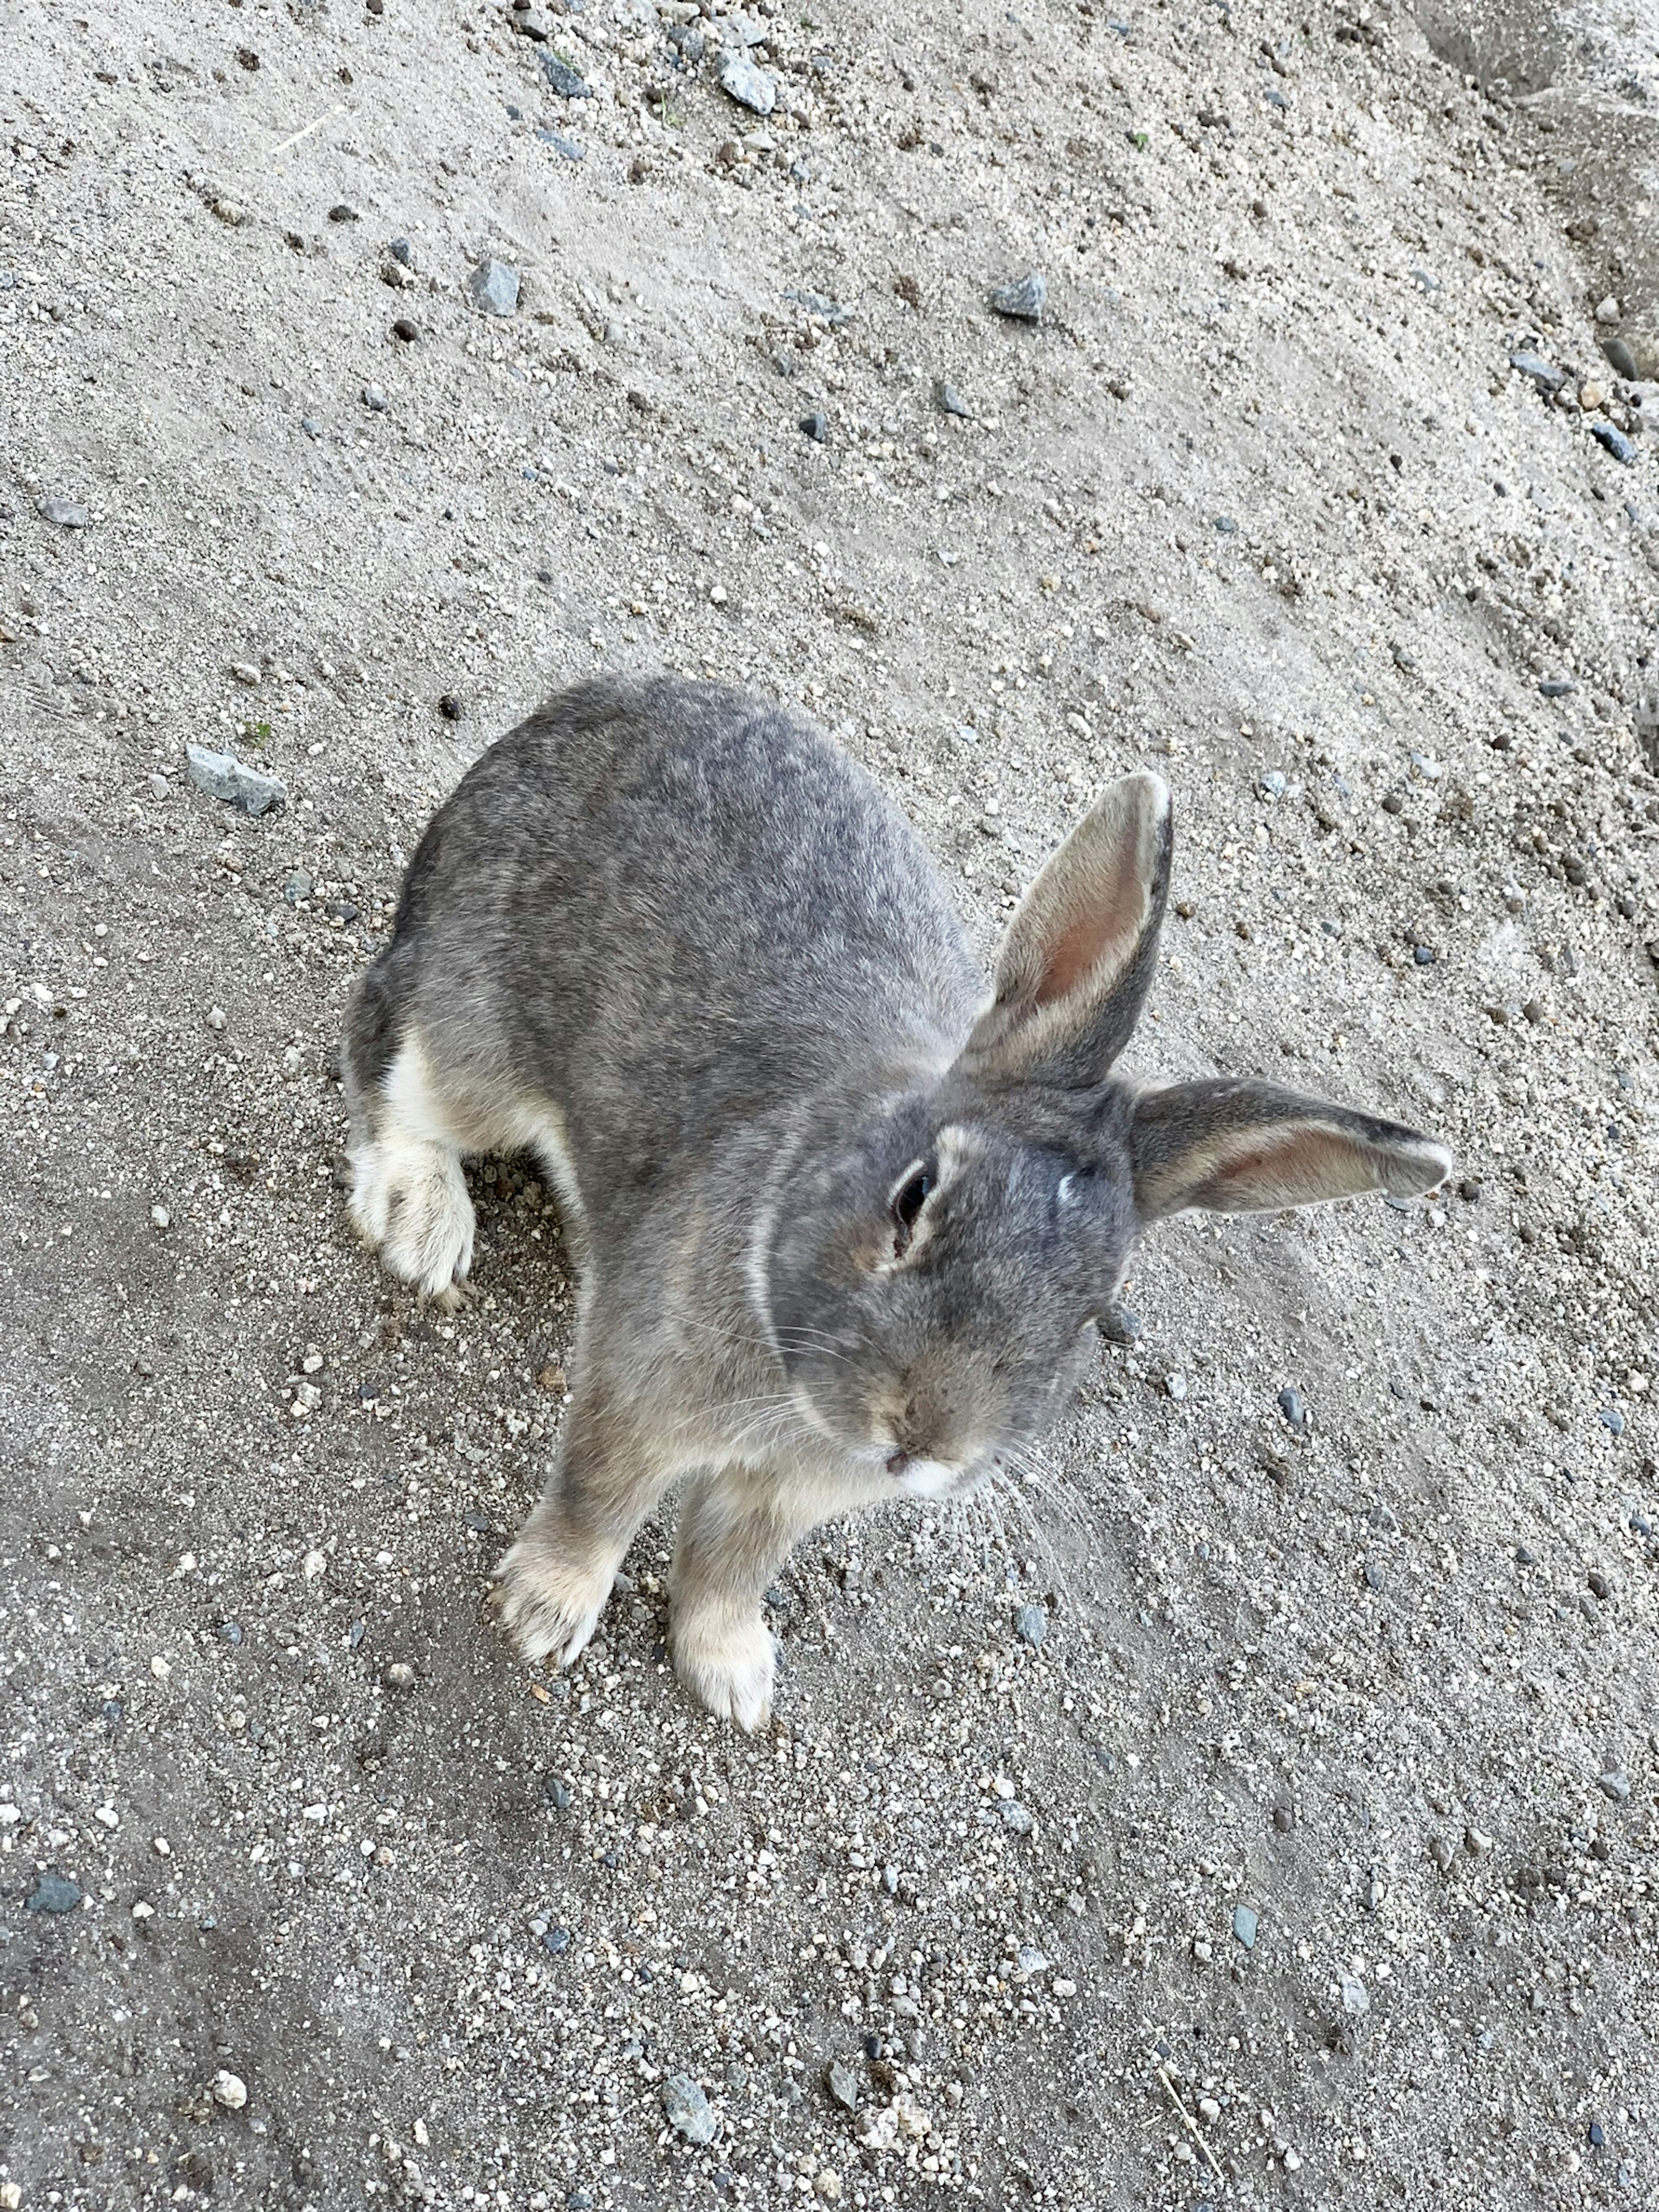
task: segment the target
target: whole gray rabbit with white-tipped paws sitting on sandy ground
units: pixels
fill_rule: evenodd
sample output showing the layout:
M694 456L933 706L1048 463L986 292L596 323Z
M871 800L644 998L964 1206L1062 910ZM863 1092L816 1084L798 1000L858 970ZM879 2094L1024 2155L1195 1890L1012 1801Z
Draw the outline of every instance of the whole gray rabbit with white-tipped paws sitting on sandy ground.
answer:
M1124 776L987 991L916 832L785 708L602 679L467 772L347 1018L352 1217L453 1301L462 1155L529 1148L560 1194L575 1396L500 1564L526 1659L575 1659L690 1475L675 1668L759 1728L790 1544L967 1495L1040 1436L1148 1221L1447 1175L1429 1137L1272 1084L1113 1077L1168 883L1170 794Z

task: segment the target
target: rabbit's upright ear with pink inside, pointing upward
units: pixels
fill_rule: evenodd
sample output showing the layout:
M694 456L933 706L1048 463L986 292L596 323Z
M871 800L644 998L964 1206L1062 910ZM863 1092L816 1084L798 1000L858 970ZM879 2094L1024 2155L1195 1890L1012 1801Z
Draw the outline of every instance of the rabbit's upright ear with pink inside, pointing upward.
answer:
M1170 792L1108 783L1009 922L995 998L962 1051L991 1082L1097 1084L1152 984L1170 891Z

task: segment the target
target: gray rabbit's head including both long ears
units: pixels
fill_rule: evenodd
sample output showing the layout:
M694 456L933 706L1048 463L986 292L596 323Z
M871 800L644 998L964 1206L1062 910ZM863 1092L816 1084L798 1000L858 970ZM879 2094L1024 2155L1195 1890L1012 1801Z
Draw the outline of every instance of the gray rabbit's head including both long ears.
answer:
M1261 1082L1135 1091L1170 794L1113 783L1046 863L956 1062L814 1150L757 1270L801 1407L894 1489L949 1495L1066 1405L1148 1221L1431 1190L1442 1146Z

